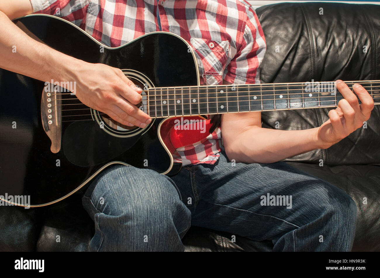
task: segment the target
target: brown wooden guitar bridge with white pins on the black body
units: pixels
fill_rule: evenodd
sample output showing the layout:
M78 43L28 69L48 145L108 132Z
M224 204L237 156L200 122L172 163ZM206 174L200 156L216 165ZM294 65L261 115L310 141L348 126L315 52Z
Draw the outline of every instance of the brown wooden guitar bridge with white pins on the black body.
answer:
M44 87L41 97L41 121L46 135L51 140L50 150L57 153L61 149L61 99L56 90L51 91L50 84Z

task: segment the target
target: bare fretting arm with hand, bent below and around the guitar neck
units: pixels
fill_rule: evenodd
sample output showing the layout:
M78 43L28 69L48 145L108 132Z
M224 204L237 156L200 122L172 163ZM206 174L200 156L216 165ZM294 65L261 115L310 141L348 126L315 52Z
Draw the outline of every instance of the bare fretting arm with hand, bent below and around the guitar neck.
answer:
M345 99L329 112L328 121L313 129L262 128L261 112L223 114L222 136L228 158L236 162L272 163L313 149L329 148L347 137L369 119L374 103L362 86L354 88L361 106L347 85L342 82L337 88Z

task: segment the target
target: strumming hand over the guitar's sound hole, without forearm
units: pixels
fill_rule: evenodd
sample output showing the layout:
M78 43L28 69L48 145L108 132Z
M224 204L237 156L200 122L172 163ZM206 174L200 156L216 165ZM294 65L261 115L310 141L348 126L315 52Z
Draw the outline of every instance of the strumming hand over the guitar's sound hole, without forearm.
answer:
M152 120L137 104L141 88L120 69L105 64L81 63L74 72L76 97L85 105L106 113L125 126L146 127Z

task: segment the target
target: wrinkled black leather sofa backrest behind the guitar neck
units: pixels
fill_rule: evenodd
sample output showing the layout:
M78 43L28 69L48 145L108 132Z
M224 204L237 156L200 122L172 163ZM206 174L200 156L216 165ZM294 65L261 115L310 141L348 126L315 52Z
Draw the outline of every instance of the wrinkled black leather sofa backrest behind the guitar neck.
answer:
M267 50L262 83L380 79L380 5L279 3L256 9ZM263 112L263 127L318 127L332 108ZM325 150L285 161L350 165L380 163L380 105L367 128Z

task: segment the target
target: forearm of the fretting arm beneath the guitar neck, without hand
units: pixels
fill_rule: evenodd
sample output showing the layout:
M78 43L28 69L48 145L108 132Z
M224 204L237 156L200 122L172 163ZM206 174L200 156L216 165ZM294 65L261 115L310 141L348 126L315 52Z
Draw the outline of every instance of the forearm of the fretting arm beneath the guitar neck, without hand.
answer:
M226 146L230 160L245 163L272 163L293 155L325 148L318 140L318 128L276 130L251 126Z

